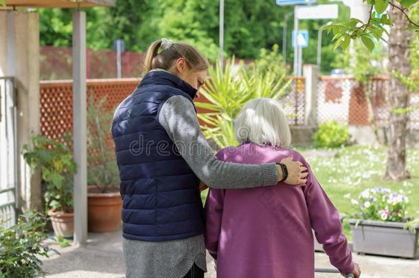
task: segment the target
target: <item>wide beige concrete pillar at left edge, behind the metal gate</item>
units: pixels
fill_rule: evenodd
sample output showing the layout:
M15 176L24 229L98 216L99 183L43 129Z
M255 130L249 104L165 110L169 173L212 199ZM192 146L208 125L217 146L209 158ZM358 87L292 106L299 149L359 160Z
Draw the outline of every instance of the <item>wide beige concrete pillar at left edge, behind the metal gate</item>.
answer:
M0 76L14 76L21 209L42 209L41 176L31 174L21 150L40 130L39 20L36 12L0 11Z

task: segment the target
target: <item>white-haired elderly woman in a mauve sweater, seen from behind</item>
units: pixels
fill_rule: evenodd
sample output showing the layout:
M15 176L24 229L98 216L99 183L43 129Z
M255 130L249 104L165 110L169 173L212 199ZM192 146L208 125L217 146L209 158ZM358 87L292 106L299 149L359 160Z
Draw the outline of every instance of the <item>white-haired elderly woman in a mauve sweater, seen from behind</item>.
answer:
M217 154L221 161L269 163L293 157L308 167L308 181L249 189L211 188L205 203L205 245L218 278L314 277L313 233L330 263L359 277L337 209L302 154L286 148L291 133L280 104L251 100L235 121L238 147Z

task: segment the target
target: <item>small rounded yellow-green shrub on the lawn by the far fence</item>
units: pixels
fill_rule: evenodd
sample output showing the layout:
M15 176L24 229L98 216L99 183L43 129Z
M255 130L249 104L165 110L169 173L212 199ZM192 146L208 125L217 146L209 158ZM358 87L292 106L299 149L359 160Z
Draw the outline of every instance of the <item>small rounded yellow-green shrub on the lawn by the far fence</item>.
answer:
M313 135L315 148L339 148L347 145L349 140L348 127L337 121L326 121L319 125L319 130Z

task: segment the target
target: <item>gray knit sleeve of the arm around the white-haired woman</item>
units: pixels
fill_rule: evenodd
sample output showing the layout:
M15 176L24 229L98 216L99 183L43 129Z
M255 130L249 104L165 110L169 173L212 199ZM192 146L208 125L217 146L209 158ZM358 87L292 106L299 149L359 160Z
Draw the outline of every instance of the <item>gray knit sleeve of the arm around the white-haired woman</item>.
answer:
M248 188L278 183L275 163L247 165L219 161L205 139L192 103L181 95L161 106L159 123L192 171L209 187Z

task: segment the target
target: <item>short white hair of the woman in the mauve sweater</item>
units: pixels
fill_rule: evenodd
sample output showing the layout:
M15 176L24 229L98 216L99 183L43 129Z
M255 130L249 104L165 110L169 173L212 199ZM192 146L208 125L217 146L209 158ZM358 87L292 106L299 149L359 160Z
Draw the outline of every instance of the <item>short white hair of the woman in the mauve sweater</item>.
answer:
M291 132L284 110L277 100L258 98L243 106L234 121L234 137L239 143L287 147Z

